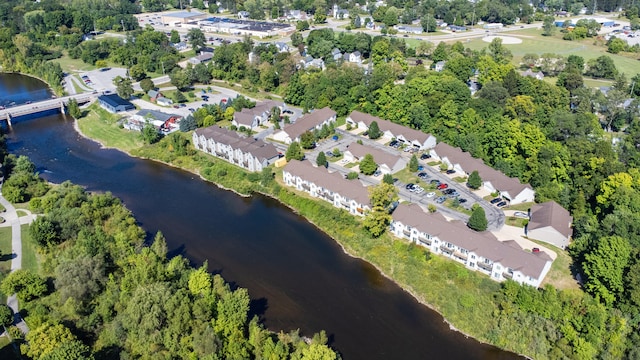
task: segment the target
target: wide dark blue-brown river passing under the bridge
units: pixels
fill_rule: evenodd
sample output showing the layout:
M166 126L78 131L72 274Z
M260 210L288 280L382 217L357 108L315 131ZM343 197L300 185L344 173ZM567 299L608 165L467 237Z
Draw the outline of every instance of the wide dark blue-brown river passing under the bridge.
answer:
M27 89L28 100L46 98L43 88L32 78L0 76L0 103L26 101L14 99L14 89ZM252 311L273 331L325 330L346 360L517 357L451 331L439 314L277 201L243 198L191 173L102 149L61 115L14 121L8 145L51 182L121 198L151 236L162 231L172 255L196 266L208 261L210 271L248 288Z

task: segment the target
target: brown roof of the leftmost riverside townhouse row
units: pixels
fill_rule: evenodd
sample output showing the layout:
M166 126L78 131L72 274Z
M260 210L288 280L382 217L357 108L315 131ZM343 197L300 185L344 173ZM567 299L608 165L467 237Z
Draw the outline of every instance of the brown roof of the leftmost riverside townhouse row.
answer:
M278 149L273 144L262 140L240 136L235 131L221 128L217 125L196 129L198 136L213 139L216 142L229 145L234 149L240 149L260 160L269 160L278 157Z

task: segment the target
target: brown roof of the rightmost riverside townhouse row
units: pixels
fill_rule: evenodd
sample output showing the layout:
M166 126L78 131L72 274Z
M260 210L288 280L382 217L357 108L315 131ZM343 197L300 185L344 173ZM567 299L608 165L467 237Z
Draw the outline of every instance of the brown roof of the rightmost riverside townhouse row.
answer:
M501 242L488 231L476 232L463 222L449 222L438 213L427 214L416 204L400 204L393 212L393 220L533 278L540 277L547 263L544 257L522 250L513 240Z

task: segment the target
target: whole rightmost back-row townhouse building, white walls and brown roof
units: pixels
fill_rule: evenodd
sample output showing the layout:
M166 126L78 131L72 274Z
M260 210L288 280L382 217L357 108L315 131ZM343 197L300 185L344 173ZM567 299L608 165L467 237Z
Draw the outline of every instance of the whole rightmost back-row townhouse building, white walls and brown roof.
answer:
M499 192L500 196L509 200L511 204L534 201L535 191L531 185L522 184L519 179L508 177L460 148L441 142L430 153L434 159L442 161L461 174L478 171L484 188L492 193Z

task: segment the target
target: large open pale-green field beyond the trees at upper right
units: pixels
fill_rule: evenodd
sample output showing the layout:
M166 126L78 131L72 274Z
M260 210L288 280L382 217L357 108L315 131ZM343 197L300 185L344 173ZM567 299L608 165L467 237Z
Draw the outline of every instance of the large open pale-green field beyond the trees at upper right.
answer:
M504 45L507 49L511 50L511 53L513 53L513 63L516 66L519 66L522 57L529 53L553 53L565 57L569 55L579 55L585 59L585 62L589 59L595 59L601 55L607 55L613 59L618 71L627 74L627 78L640 73L638 60L624 55L610 54L607 52L605 46L594 45L594 39L567 41L562 40L562 33L559 31L554 36L542 36L541 33L542 30L539 29L517 30L513 32L504 31L500 33L500 35L515 36L522 39L521 44ZM473 50L480 50L487 47L489 43L478 38L470 39L464 45L465 47Z

